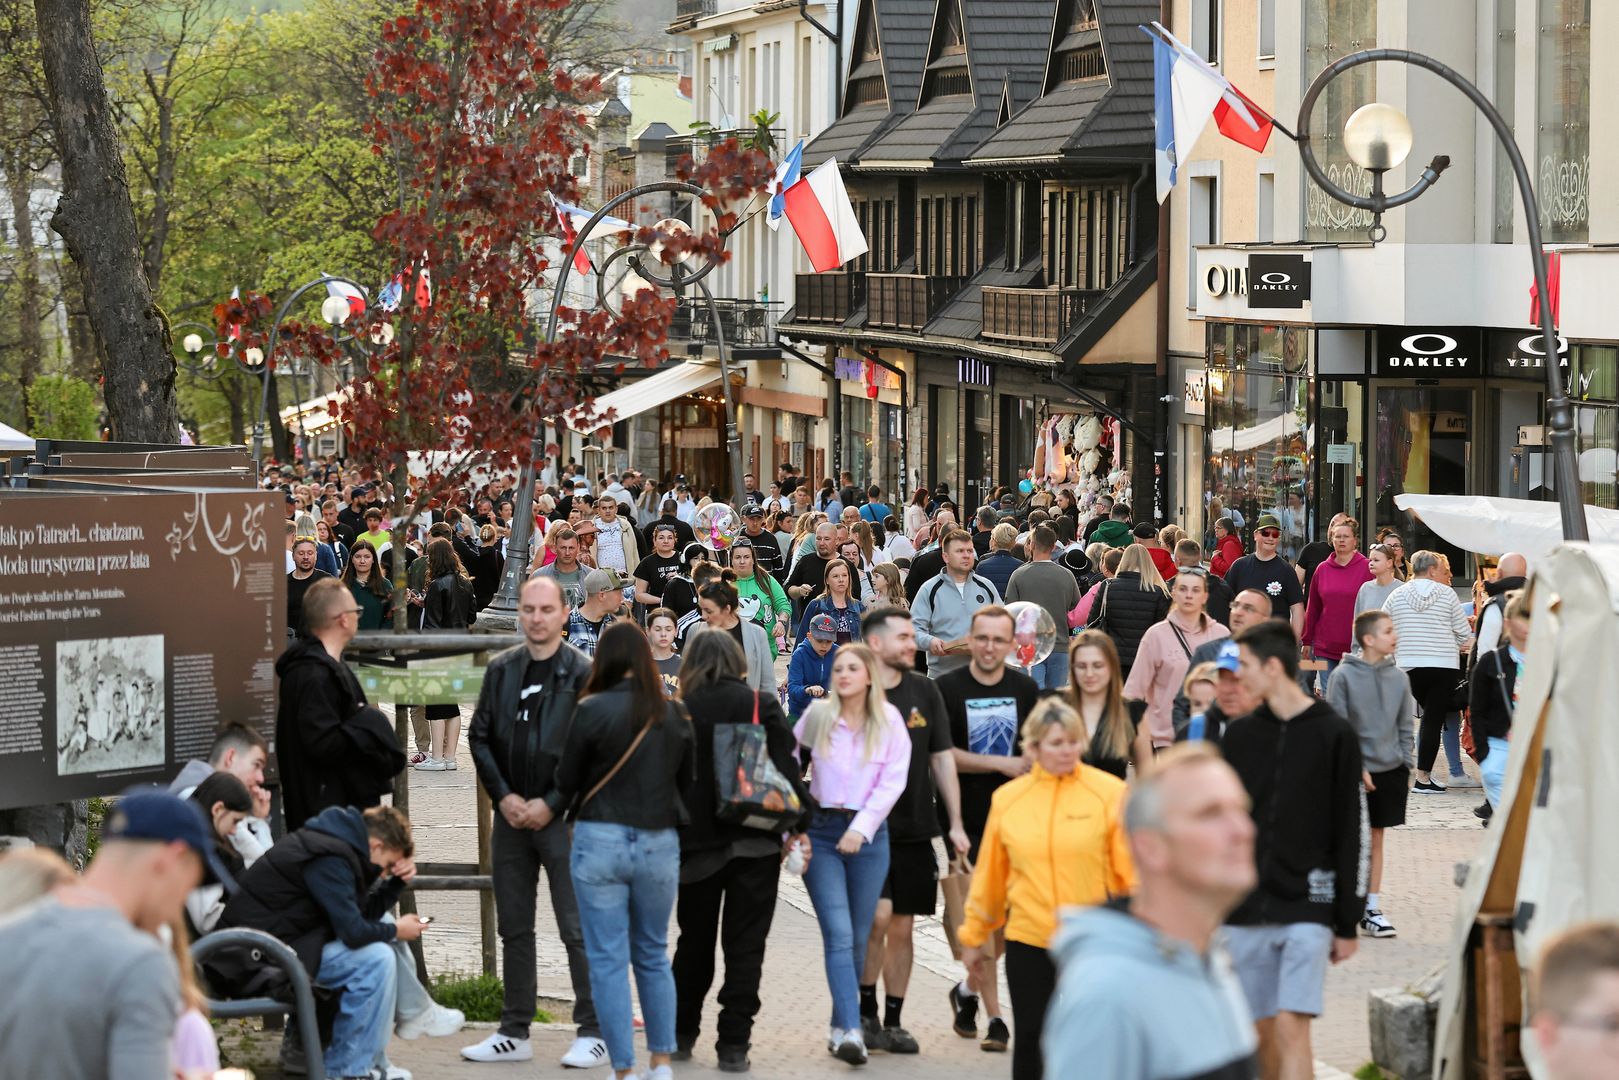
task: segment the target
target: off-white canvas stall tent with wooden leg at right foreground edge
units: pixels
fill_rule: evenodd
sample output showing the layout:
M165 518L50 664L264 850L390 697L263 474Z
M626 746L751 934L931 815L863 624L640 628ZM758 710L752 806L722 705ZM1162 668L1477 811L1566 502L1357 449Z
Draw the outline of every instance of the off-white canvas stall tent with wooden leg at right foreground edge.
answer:
M1514 549L1530 547L1514 542ZM1434 1036L1436 1080L1483 1075L1472 1067L1475 1027L1486 1020L1478 1015L1486 978L1475 955L1480 916L1512 920L1514 949L1496 984L1506 997L1499 1020L1509 1033L1522 1023L1523 1056L1536 1078L1546 1074L1525 997L1540 949L1574 923L1619 920L1619 860L1613 857L1619 544L1561 544L1536 557L1530 588L1533 628L1515 688L1512 750L1501 803L1457 904Z

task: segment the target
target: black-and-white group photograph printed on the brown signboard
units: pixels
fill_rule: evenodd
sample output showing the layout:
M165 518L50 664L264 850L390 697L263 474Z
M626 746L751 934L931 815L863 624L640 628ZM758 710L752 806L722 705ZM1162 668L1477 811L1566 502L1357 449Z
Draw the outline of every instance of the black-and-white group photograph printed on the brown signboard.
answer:
M164 636L57 643L57 772L164 764Z

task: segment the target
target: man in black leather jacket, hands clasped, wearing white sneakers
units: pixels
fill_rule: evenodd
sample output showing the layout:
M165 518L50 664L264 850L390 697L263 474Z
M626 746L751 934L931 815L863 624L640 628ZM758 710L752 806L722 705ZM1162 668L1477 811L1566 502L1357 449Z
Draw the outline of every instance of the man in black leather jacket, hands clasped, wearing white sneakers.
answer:
M555 578L534 576L518 597L526 641L500 653L484 670L468 743L478 780L495 805L494 892L505 947L505 1009L500 1030L461 1049L468 1061L531 1061L534 1020L534 899L539 871L550 882L550 907L568 952L573 1023L578 1038L562 1056L570 1069L607 1064L596 1022L580 908L568 874L568 827L557 790L557 761L568 740L573 703L591 672L588 656L562 640L568 602Z

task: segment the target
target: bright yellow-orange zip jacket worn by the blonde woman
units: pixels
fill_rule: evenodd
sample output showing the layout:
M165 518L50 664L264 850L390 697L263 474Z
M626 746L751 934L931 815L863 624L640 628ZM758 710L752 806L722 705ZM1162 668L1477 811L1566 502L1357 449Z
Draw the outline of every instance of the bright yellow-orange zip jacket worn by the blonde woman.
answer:
M1080 764L1052 776L1038 764L996 789L962 921L963 946L1002 925L1009 941L1046 949L1064 907L1101 904L1135 887L1124 832L1125 784Z

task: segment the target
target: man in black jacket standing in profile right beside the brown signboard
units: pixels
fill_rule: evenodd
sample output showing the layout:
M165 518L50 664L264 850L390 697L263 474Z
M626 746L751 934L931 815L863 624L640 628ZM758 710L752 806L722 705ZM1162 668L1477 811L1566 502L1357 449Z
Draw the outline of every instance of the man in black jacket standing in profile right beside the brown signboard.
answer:
M275 661L282 678L275 712L275 756L282 766L287 827L327 806L376 806L405 767L393 725L366 703L343 649L359 627L359 604L348 586L325 578L304 594L311 640Z

